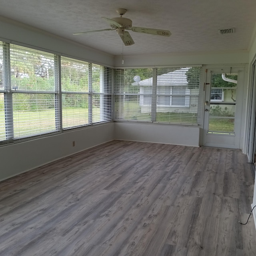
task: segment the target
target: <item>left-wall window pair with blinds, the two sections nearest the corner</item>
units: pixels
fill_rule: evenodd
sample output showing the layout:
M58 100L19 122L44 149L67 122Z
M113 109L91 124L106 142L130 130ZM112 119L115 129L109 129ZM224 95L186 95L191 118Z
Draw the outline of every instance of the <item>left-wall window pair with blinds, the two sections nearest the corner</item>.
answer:
M112 120L112 69L61 58L62 124L72 128Z

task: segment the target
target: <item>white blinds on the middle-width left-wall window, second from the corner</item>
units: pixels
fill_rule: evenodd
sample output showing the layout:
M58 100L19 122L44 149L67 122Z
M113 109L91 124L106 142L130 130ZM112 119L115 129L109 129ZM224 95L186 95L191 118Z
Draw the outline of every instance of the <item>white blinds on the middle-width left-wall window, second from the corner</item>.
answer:
M61 57L62 127L89 124L89 63Z

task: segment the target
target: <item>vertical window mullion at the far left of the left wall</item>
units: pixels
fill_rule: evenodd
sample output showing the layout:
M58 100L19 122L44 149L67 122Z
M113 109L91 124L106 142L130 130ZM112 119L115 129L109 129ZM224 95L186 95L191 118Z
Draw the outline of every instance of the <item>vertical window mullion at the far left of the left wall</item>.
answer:
M11 64L10 64L10 44L3 44L3 77L4 77L4 114L5 130L8 140L14 137L13 126L13 106L12 106L12 84L11 84Z

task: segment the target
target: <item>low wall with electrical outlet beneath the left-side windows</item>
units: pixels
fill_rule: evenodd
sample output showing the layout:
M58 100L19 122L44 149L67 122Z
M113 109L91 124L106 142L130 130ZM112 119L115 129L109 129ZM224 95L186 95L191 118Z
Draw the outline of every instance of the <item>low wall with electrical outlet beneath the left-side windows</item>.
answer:
M0 180L114 139L114 123L0 147ZM72 142L75 141L73 147Z

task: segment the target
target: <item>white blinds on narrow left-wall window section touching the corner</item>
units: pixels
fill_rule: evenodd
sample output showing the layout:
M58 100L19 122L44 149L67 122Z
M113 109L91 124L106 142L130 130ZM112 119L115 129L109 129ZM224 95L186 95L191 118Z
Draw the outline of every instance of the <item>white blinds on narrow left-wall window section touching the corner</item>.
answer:
M112 120L112 68L92 64L92 122Z

